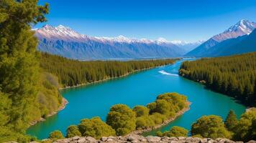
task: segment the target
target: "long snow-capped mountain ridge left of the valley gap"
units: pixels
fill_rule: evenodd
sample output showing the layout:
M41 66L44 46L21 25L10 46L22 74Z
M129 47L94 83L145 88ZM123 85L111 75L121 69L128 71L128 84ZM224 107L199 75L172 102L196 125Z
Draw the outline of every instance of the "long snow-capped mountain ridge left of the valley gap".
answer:
M35 29L38 49L71 59L163 58L183 56L185 50L165 39L129 39L79 34L65 26Z

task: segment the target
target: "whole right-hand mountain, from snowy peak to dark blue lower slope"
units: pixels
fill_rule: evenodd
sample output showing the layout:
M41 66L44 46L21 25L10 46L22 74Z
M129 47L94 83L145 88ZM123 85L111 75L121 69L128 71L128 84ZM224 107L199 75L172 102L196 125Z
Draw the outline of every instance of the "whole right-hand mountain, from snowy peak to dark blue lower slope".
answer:
M241 20L237 22L234 26L231 26L229 29L224 31L221 34L211 37L196 49L188 52L186 56L222 56L230 54L242 54L248 51L256 51L253 48L242 49L242 47L237 47L235 45L243 41L243 44L246 44L245 39L256 28L256 23L250 22L248 20ZM251 40L253 38L251 37ZM250 42L250 39L247 40ZM247 46L249 46L248 44ZM238 45L239 46L239 45ZM253 45L251 45L253 46ZM234 49L232 49L235 48Z

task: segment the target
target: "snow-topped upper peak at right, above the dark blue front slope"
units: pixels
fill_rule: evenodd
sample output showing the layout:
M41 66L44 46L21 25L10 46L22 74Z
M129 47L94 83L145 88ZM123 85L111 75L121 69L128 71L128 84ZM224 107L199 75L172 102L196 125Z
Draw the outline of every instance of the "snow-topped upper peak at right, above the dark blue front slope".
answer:
M248 35L255 28L255 22L241 20L237 22L237 24L234 24L234 26L229 27L229 29L225 30L223 33L211 37L211 39L196 47L196 49L193 49L192 51L188 52L186 56L206 56L206 51L209 52L209 50L211 50L212 47L217 46L222 41L226 41L229 39L237 39L239 36Z

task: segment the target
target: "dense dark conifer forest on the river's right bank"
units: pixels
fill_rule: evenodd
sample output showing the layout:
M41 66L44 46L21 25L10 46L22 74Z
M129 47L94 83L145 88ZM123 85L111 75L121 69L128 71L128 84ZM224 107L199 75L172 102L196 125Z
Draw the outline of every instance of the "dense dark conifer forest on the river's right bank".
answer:
M216 92L256 106L256 52L196 61L185 61L179 74Z

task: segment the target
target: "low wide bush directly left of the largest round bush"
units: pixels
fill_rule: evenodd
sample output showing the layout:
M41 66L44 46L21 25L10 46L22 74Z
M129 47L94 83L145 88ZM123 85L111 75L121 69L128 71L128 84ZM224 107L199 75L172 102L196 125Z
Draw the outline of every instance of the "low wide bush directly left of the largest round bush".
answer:
M78 129L83 137L94 137L95 139L116 135L114 129L101 121L99 117L82 119L81 124L78 124Z

